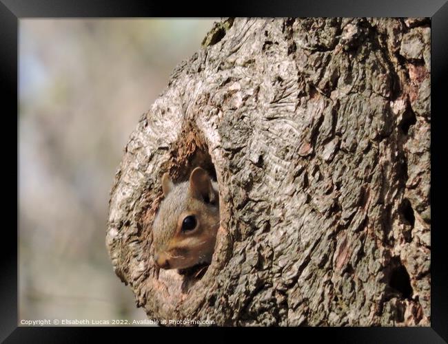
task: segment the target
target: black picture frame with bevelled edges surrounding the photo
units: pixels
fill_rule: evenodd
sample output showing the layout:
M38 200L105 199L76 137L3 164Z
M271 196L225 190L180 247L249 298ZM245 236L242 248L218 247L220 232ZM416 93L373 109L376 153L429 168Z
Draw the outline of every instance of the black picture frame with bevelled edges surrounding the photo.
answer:
M445 86L448 85L448 3L447 0L319 0L319 1L256 1L225 3L225 9L213 3L201 5L183 2L172 3L115 0L0 0L0 91L3 96L4 119L17 113L18 83L18 25L19 19L54 17L198 17L197 9L207 12L207 17L431 17L431 327L300 327L284 329L299 331L312 336L313 341L322 338L332 343L448 343L448 268L447 235L443 226L445 169L442 168L446 153L443 147L446 118ZM207 11L207 9L210 9ZM221 12L221 13L216 13ZM204 15L204 14L202 14ZM444 97L445 96L445 97ZM445 111L444 111L445 110ZM17 113L18 114L18 113ZM17 117L18 119L18 117ZM12 132L3 123L4 135ZM18 125L18 122L17 122ZM18 131L17 131L18 133ZM10 142L10 141L8 141ZM17 140L17 142L19 142ZM10 144L3 149L9 149ZM19 149L17 147L17 169ZM6 160L6 158L5 158ZM5 161L3 160L3 161ZM8 173L14 173L9 164ZM15 171L15 172L18 172ZM19 182L17 179L17 195ZM14 199L14 197L12 197ZM9 197L3 197L14 213ZM18 200L17 200L18 201ZM17 228L19 228L19 203L17 202ZM6 215L7 216L7 215ZM6 235L6 237L5 237ZM1 259L1 307L0 340L8 343L49 343L85 341L85 332L91 327L18 327L17 295L17 232L3 226ZM104 328L104 327L103 327ZM135 328L135 327L133 327ZM111 329L115 330L115 329ZM158 329L163 330L163 329ZM259 329L265 332L265 329ZM238 330L239 331L239 330ZM250 331L250 330L248 330ZM283 329L276 329L283 331ZM150 334L145 330L146 334ZM234 335L232 335L234 336ZM303 338L294 334L297 340ZM128 338L129 339L129 338Z

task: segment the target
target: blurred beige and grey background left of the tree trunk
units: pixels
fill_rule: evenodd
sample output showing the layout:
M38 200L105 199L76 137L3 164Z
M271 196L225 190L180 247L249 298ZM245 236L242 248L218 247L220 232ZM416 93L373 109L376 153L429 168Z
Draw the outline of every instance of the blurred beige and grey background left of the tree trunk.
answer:
M105 249L137 121L217 19L19 21L19 321L146 319Z

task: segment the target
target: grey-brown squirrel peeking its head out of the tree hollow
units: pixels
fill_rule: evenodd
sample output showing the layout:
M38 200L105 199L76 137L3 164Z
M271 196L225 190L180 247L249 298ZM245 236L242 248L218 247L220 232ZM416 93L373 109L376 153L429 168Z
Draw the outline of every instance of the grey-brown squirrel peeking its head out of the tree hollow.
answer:
M164 199L152 228L156 266L183 270L210 264L220 225L216 182L196 167L190 180L179 184L165 173L162 190Z

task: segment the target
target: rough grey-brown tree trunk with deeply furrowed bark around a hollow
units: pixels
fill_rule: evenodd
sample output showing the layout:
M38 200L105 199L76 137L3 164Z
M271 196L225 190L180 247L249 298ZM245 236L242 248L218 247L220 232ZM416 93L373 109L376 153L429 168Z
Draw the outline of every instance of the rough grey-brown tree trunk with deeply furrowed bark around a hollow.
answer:
M110 198L116 275L150 319L430 324L429 19L223 19L174 70ZM154 275L161 175L216 175L204 275Z

